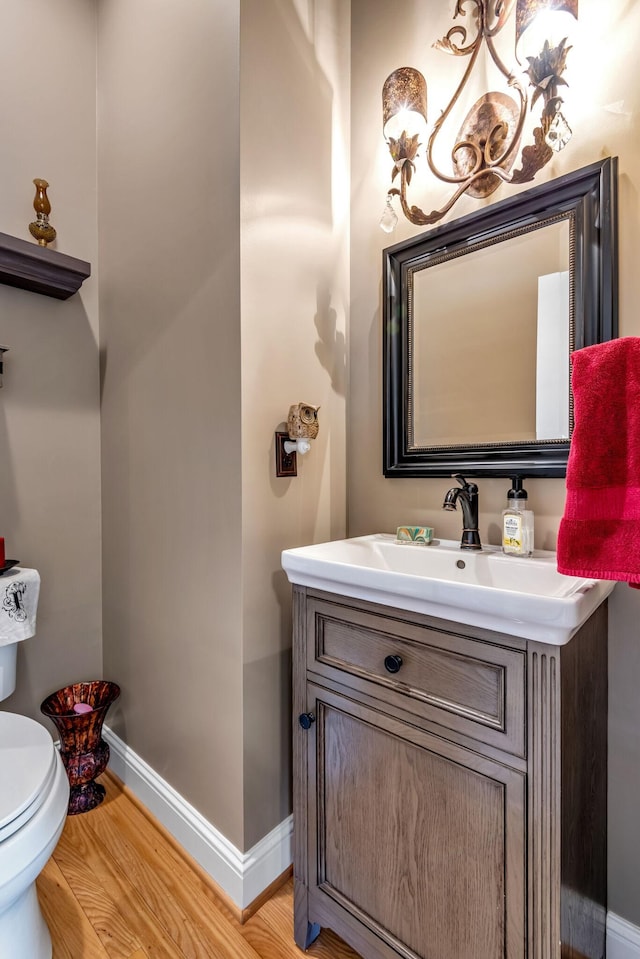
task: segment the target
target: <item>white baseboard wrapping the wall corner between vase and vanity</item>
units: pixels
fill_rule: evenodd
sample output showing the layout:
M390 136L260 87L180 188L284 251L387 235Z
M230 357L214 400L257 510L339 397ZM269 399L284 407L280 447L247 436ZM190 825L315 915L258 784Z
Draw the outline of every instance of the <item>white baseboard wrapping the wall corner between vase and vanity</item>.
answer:
M193 856L238 909L246 909L292 862L293 816L249 852L240 852L180 793L107 726L109 765L119 779Z

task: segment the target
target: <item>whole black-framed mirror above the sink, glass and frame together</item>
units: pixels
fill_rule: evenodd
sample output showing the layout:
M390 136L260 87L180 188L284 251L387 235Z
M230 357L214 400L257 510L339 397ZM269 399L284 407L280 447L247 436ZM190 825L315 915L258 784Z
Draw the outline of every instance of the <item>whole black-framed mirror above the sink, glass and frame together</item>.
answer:
M617 336L617 163L384 251L386 476L564 476L569 355Z

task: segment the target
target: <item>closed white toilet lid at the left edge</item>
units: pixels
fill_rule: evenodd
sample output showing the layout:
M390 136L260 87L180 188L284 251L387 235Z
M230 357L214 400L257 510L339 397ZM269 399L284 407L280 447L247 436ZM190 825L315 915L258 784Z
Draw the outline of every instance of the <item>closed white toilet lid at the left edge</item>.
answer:
M0 712L0 843L44 803L56 773L56 750L40 723Z

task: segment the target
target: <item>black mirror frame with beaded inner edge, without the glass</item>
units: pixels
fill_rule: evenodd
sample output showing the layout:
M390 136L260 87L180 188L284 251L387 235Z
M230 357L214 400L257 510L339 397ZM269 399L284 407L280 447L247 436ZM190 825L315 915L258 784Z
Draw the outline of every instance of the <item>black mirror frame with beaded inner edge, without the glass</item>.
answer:
M572 349L618 335L617 159L607 158L383 251L383 472L389 477L564 476L569 440L416 447L410 443L407 277L550 218L572 218ZM569 371L567 371L567 377ZM472 386L470 387L472 388Z

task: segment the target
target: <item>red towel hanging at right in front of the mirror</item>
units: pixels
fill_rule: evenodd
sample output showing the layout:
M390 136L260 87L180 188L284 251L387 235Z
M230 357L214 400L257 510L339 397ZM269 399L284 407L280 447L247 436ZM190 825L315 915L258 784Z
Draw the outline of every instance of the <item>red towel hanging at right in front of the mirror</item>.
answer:
M640 588L640 337L571 356L574 429L558 571Z

